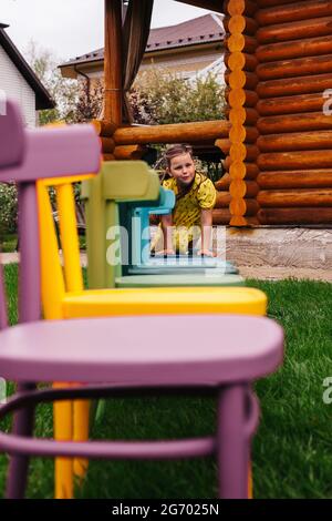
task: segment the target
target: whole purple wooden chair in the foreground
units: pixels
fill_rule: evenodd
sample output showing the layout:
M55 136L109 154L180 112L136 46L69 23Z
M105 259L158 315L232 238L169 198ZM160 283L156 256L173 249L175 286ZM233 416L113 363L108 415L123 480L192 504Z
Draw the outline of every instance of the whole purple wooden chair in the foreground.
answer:
M19 392L0 408L0 419L15 412L13 433L0 432L0 450L12 456L7 497L23 497L31 456L170 459L215 454L219 497L247 498L250 437L258 422L258 403L250 385L281 362L281 327L268 318L243 315L39 320L34 182L42 175L60 174L55 166L50 168L53 154L60 152L58 145L64 149L58 165L56 161L53 164L63 167L62 172L97 170L98 142L90 126L28 133L23 166L9 170L7 164L1 171L0 162L0 178L20 182L21 324L0 333L0 374L19 382ZM45 149L48 166L42 168ZM0 299L4 302L2 292ZM176 339L173 344L166 329ZM35 382L41 380L81 381L86 386L37 390ZM218 396L217 432L212 437L144 442L32 438L39 402L175 392Z

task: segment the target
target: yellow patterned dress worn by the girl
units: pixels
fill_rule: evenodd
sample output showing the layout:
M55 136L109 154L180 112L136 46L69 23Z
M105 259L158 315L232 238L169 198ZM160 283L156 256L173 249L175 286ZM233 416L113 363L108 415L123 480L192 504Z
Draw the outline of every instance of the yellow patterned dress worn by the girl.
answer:
M179 192L174 177L164 181L163 186L173 190L176 196L173 210L173 248L179 253L187 253L188 245L200 237L201 210L211 210L216 204L215 185L205 175L196 173L188 192ZM159 227L152 241L152 249L156 252L164 249L163 242L163 231Z

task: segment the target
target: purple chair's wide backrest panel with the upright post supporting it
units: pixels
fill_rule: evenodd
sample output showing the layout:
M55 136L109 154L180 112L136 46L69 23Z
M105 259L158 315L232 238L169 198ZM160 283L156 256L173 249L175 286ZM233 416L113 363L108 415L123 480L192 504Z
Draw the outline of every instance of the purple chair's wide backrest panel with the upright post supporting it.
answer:
M39 224L35 182L97 173L101 142L92 125L56 126L24 132L27 151L20 166L0 170L1 181L19 185L20 321L40 318Z

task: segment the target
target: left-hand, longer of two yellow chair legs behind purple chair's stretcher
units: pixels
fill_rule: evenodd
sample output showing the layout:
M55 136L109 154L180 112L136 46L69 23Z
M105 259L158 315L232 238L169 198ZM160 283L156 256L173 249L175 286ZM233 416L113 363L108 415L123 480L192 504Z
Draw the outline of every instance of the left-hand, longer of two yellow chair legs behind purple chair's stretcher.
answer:
M69 387L68 384L54 384L54 388ZM54 439L71 441L73 437L73 402L59 401L53 408ZM72 458L55 458L54 462L55 499L73 498L73 460Z

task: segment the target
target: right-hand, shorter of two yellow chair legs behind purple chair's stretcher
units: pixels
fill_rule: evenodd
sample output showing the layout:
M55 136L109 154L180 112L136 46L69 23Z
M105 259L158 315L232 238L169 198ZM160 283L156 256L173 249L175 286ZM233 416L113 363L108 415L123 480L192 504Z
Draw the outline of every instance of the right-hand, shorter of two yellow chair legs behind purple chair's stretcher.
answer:
M86 441L89 439L89 423L90 423L90 401L75 400L73 407L73 427L74 427L74 441ZM89 460L84 458L74 459L74 476L80 482L85 478L89 467Z

